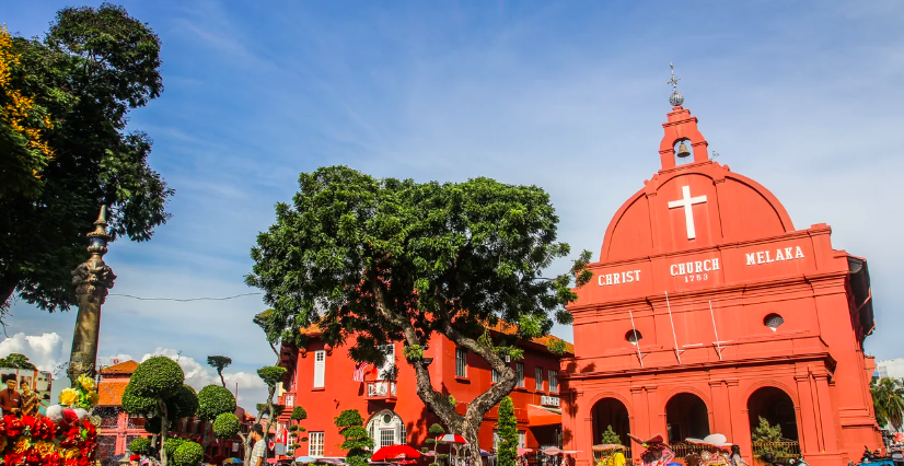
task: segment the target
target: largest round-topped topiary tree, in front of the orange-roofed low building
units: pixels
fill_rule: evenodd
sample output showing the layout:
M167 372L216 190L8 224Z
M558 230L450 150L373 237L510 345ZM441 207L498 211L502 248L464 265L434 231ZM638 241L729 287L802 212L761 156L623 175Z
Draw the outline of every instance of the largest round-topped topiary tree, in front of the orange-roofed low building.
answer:
M160 448L163 466L170 465L170 457L182 442L169 438L170 427L178 419L195 416L199 407L195 391L184 382L182 368L172 359L158 356L138 364L123 393L123 409L142 416L146 429L155 438L164 439Z

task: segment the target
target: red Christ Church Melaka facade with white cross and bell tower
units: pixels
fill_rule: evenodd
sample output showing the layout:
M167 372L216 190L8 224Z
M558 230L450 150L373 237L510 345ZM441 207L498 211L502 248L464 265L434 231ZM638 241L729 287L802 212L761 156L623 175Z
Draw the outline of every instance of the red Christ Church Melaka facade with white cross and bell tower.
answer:
M662 168L615 213L568 307L565 448L587 466L609 426L626 445L628 432L673 445L722 433L753 464L762 417L813 466L856 462L882 445L866 260L709 160L697 118L677 91L671 102Z

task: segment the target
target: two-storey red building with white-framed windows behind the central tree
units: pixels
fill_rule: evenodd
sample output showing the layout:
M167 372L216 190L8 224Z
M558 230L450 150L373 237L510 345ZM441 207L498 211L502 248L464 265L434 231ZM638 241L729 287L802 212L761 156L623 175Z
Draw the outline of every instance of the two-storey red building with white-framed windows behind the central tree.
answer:
M305 348L282 349L282 365L289 372L286 393L280 397L286 410L279 422L289 422L294 406L303 406L308 411L308 419L301 426L306 428L309 440L300 443L294 452L297 456L344 456L333 418L346 409L361 412L376 447L401 443L424 445L427 429L439 420L417 396L415 372L401 359L401 342L386 347L389 360L383 368L366 371L364 382L355 382L356 363L347 348L331 348L317 338L315 329L305 334L310 337ZM512 362L520 383L511 397L521 443L529 447L560 445L558 371L561 357L546 349L550 339L556 338L521 341L519 347L524 350L524 360ZM571 346L567 347L567 356L571 356ZM424 356L432 359L429 371L433 386L452 395L461 413L468 400L494 383L494 373L486 361L456 348L441 335L432 336ZM393 365L397 371L392 370ZM491 409L480 427L479 440L485 450L494 445L497 417L496 408Z

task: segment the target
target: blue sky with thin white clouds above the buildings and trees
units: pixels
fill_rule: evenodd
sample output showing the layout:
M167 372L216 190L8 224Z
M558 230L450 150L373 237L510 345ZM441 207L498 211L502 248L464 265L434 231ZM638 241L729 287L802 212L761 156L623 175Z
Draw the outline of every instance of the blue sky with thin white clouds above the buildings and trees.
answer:
M7 2L0 21L38 35L65 2ZM669 62L719 162L773 190L795 225L825 222L869 259L878 329L902 354L894 282L904 259L897 137L904 3L871 2L126 2L163 42L165 91L131 114L176 196L146 244L117 242L114 293L225 296L273 206L300 172L490 176L547 189L560 236L596 254L622 202L659 168ZM560 264L565 267L565 264ZM257 296L154 302L111 296L105 357L181 352L235 360L240 403L275 360ZM0 352L68 360L74 313L18 303ZM44 334L57 334L46 336ZM570 338L570 328L555 333Z

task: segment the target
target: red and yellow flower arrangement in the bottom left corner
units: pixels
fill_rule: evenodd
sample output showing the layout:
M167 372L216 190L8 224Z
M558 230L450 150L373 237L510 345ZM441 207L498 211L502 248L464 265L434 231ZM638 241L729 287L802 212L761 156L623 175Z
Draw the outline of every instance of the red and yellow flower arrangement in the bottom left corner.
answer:
M84 375L74 388L60 394L60 404L46 417L4 416L0 419L0 458L3 466L91 466L97 447L97 428L88 410L97 404L94 380Z

